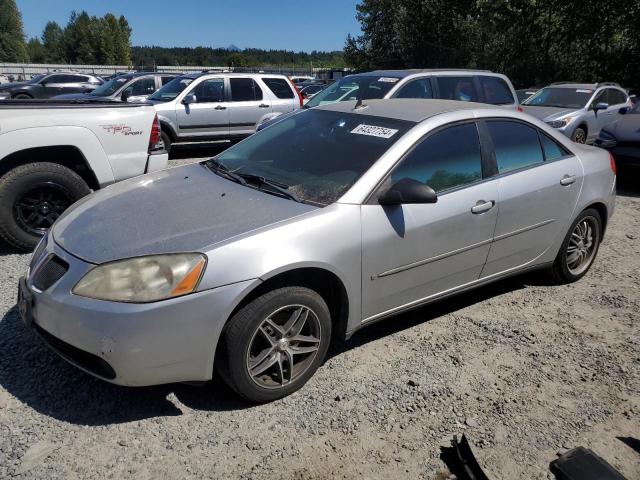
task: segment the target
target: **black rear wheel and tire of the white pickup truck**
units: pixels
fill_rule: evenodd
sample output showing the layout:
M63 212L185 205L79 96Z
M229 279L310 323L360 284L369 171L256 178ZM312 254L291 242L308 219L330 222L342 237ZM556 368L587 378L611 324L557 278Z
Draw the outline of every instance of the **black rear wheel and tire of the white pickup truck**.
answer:
M90 192L77 173L62 165L16 167L0 178L0 237L19 250L33 250L62 211ZM28 221L33 212L36 217Z

